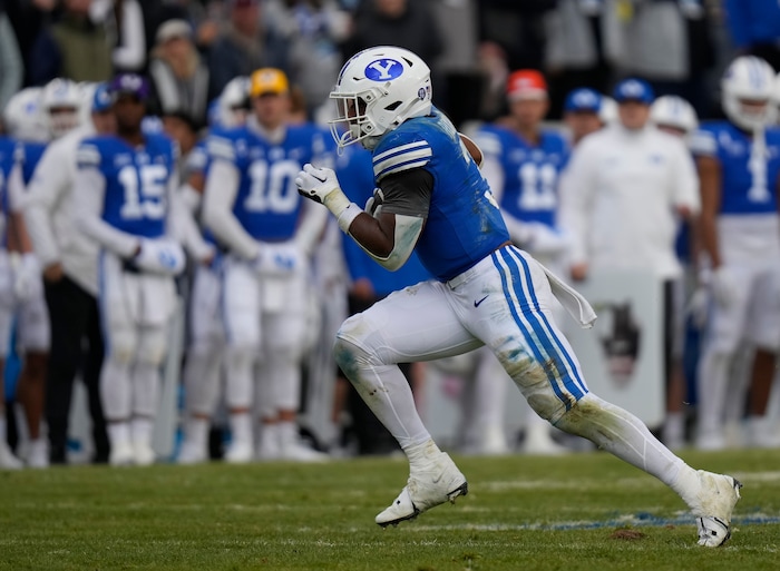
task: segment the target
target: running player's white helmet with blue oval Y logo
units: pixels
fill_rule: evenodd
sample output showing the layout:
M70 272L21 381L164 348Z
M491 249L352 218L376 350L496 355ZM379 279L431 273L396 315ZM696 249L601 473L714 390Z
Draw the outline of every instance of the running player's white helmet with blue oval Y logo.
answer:
M369 48L344 63L330 97L337 102L330 125L339 148L362 141L372 149L407 119L430 114L430 69L403 48Z

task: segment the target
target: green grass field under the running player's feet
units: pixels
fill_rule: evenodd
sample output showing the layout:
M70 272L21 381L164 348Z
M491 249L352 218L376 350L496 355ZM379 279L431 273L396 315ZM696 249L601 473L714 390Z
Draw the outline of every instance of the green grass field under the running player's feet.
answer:
M406 461L74 466L0 472L0 569L778 569L780 451L683 456L744 483L723 548L698 547L682 501L604 453L456 457L469 495L384 531Z

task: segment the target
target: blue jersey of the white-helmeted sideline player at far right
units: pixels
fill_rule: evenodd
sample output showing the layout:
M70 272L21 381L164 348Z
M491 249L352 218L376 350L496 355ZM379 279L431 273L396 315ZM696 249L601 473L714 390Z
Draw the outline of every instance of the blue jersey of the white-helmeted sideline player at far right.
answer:
M694 155L709 156L721 167L723 215L776 214L780 175L780 130L766 131L763 156L754 154L752 137L728 121L703 124L691 140Z

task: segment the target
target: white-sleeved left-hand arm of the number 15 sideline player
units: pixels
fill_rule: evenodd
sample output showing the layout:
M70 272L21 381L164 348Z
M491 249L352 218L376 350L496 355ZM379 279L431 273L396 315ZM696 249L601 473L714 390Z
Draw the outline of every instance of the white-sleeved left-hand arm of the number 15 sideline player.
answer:
M79 149L79 169L74 181L74 211L76 226L90 239L123 258L133 258L140 252L140 239L121 232L103 219L106 179L97 168L97 149ZM86 157L86 158L85 158Z

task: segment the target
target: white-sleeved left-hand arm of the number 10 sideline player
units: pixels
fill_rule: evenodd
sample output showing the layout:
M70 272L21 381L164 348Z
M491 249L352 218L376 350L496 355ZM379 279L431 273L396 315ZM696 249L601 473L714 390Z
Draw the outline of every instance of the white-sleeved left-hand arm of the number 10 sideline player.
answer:
M233 253L254 259L260 255L260 244L233 215L238 184L240 173L234 164L222 159L212 163L203 196L203 223Z

